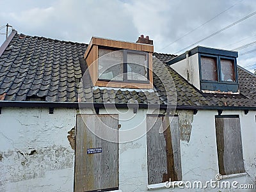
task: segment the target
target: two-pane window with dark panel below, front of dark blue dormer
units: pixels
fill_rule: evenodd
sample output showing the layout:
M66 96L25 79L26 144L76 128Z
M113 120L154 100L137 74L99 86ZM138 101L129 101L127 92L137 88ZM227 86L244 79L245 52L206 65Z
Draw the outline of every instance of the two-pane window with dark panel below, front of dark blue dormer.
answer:
M236 58L199 54L201 90L237 92Z

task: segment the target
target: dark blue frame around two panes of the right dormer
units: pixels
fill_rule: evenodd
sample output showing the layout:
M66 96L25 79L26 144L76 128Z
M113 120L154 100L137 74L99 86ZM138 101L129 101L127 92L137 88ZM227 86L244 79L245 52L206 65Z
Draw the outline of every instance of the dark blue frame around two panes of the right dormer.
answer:
M202 79L202 63L201 63L201 57L202 56L206 57L206 58L207 57L208 58L216 58L217 79L218 79L218 81L211 81L211 80ZM221 80L221 59L232 60L233 61L233 65L234 65L233 70L234 70L235 81L222 81ZM198 54L198 64L199 64L200 82L203 82L203 83L220 83L220 84L238 84L236 58L228 57L228 56L214 55L214 54L199 53ZM201 90L202 90L202 88L201 88Z

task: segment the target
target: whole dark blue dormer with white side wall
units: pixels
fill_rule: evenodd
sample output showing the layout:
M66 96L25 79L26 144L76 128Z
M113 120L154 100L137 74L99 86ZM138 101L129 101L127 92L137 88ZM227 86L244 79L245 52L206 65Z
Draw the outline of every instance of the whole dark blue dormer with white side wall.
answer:
M235 51L195 47L167 62L203 92L238 92Z

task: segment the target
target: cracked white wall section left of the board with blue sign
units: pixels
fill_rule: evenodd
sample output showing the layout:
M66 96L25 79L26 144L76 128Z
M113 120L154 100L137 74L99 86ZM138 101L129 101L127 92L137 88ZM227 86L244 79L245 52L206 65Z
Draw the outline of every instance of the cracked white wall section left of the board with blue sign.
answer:
M72 191L75 109L2 110L0 191Z

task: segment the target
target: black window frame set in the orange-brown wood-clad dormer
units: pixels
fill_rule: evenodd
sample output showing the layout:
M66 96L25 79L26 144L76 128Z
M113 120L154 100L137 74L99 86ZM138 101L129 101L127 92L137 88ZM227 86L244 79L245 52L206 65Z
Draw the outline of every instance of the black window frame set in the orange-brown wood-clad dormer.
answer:
M110 47L99 47L99 49L108 49L111 50ZM149 54L148 52L145 51L136 51L136 50L131 50L131 49L116 49L115 51L122 51L123 52L123 80L114 80L114 79L100 79L99 77L99 71L97 73L97 79L98 81L106 81L106 82L116 82L116 83L143 83L143 84L149 84L150 83L150 77L149 77ZM147 80L146 81L140 81L140 80L133 80L133 79L128 79L127 76L127 67L128 67L128 59L127 59L127 55L131 53L131 54L141 54L143 56L146 56L147 58ZM99 65L99 63L98 63Z

